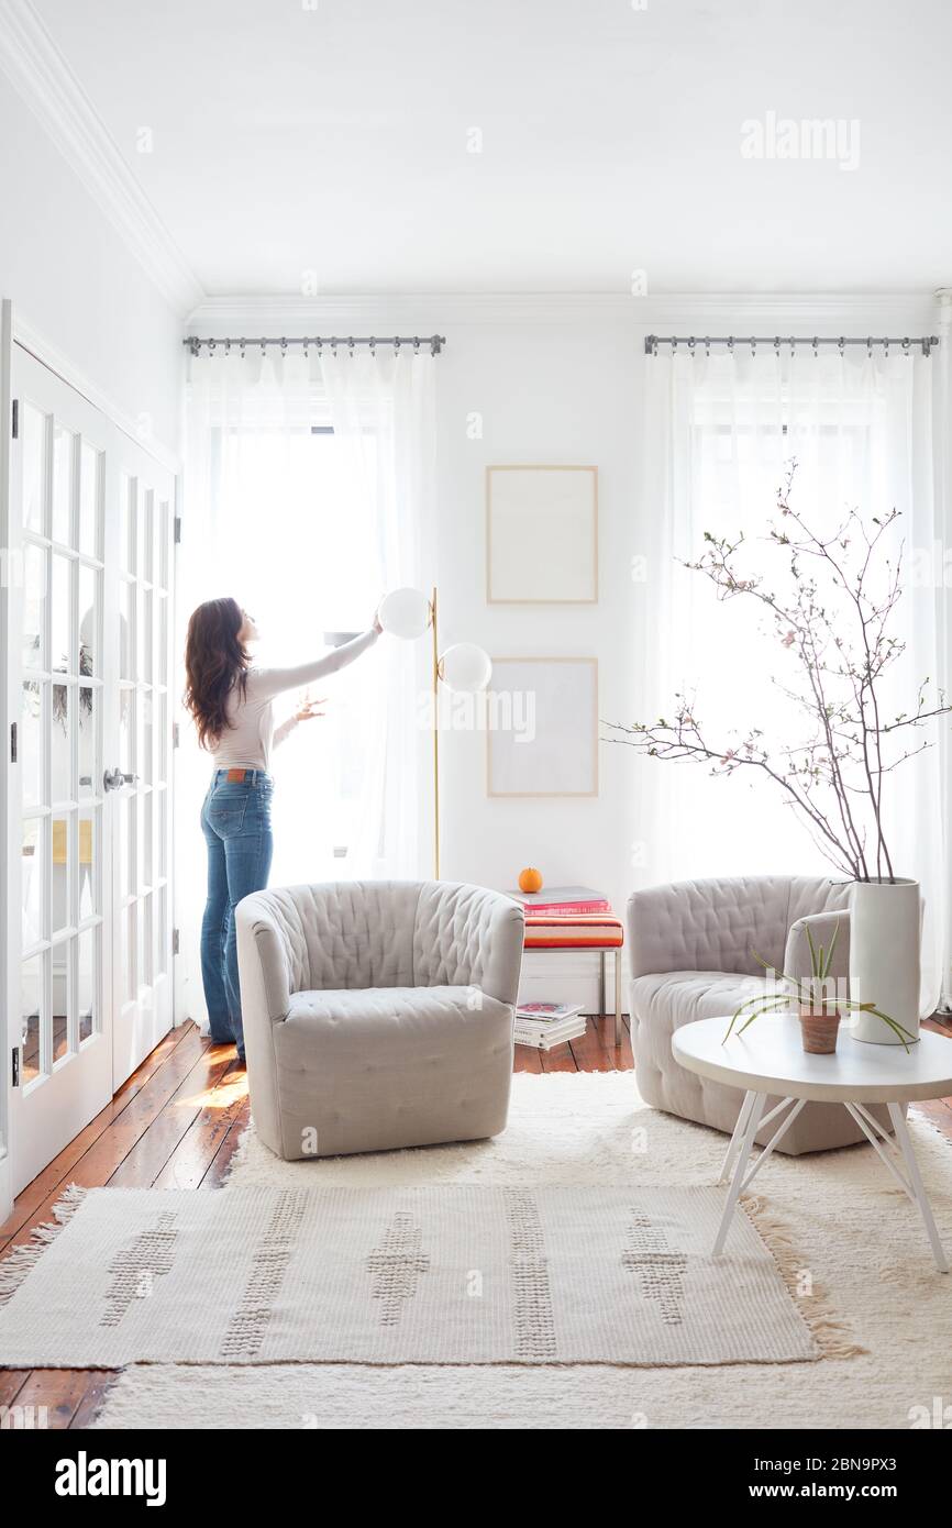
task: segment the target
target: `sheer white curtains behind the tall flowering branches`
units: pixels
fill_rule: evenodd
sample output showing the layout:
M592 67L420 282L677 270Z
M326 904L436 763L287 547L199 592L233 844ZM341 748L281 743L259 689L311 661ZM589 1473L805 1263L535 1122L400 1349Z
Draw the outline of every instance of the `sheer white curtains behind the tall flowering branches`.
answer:
M691 697L704 732L730 744L733 729L761 727L767 741L808 735L773 680L793 659L753 602L718 602L714 587L680 565L697 559L704 532L750 542L775 516L778 489L796 461L792 504L822 530L856 507L863 516L902 512L903 597L894 633L906 643L889 701L915 706L923 678L946 683L940 640L947 591L934 575L940 544L934 487L934 368L914 351L862 347L781 347L756 354L703 347L648 359L646 547L642 607L642 715L671 715L677 691ZM749 559L750 561L750 559ZM766 571L775 565L761 558ZM923 1004L935 1005L947 970L947 876L943 769L934 746L888 778L885 827L897 874L923 885ZM750 772L753 776L753 772ZM738 770L712 779L706 766L639 759L645 880L743 872L825 871L807 830L779 790ZM836 876L836 871L831 871Z

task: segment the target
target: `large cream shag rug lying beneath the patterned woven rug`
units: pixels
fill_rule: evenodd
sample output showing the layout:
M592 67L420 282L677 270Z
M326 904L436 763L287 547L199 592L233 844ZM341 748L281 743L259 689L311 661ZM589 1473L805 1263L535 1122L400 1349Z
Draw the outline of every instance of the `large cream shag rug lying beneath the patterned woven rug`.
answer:
M911 1132L952 1245L952 1151ZM726 1138L646 1108L633 1073L520 1076L492 1141L281 1163L249 1131L229 1184L711 1186ZM909 1427L952 1403L952 1276L868 1146L778 1157L749 1203L827 1355L711 1368L134 1365L99 1427ZM727 1250L730 1251L730 1242ZM836 1320L830 1319L830 1309Z

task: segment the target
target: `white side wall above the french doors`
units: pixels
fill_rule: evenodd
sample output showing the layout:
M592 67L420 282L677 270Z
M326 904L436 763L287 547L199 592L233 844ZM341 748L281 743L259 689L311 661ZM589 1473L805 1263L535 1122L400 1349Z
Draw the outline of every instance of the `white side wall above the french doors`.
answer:
M180 316L3 75L0 142L0 296L116 413L177 452Z

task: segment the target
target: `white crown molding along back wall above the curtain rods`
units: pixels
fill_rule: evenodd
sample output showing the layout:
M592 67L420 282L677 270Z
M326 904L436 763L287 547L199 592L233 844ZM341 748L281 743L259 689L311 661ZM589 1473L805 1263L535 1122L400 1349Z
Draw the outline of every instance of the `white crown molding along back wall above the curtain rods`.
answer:
M442 332L451 324L631 324L636 330L701 332L708 325L764 324L769 333L805 324L848 329L869 324L912 333L937 322L931 293L733 293L685 292L627 296L614 292L403 293L373 296L212 296L191 310L189 333L269 335Z

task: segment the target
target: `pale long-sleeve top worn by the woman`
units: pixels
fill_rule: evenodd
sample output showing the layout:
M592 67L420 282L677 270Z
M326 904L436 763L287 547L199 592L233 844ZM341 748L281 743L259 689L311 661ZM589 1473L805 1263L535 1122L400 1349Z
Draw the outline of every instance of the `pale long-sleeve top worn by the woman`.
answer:
M296 717L289 717L275 729L272 700L287 689L301 689L318 678L336 674L377 640L373 628L353 642L327 652L310 663L293 668L249 668L244 695L235 685L228 697L226 715L229 726L214 743L211 756L215 769L263 769L270 767L270 752L298 726Z

